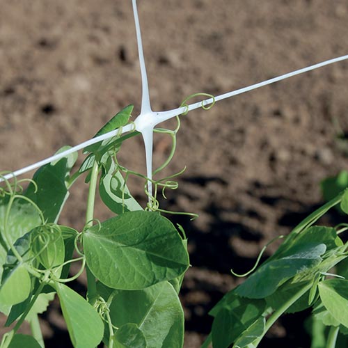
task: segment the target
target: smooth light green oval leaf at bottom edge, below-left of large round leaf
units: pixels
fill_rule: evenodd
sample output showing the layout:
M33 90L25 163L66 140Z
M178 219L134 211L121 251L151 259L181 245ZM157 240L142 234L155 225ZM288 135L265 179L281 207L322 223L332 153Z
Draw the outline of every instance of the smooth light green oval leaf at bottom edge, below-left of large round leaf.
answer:
M61 283L54 285L74 348L95 348L102 340L104 324L82 296Z

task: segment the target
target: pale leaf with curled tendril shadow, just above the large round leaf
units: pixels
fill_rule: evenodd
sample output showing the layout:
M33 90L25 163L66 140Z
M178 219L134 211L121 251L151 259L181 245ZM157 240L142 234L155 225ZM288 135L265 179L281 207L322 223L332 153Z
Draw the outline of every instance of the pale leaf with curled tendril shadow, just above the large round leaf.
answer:
M100 177L99 192L106 207L116 214L143 210L129 192L122 174L119 171L113 173L113 170L114 166Z

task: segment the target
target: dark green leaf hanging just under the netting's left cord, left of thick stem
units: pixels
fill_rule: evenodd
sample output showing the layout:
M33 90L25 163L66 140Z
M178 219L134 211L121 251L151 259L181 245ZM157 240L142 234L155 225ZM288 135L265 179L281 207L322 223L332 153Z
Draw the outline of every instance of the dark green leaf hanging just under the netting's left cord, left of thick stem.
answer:
M58 152L61 152L61 150ZM65 200L69 196L65 180L68 179L70 169L76 159L77 155L73 153L68 157L52 162L52 164L42 166L33 175L38 190L36 191L33 184L30 184L26 190L25 196L40 207L46 221L49 223L58 221Z

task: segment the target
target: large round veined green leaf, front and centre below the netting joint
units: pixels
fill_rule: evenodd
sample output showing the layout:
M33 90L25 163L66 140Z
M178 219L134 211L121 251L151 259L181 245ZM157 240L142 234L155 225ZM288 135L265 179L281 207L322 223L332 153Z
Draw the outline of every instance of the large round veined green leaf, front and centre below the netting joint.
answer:
M88 228L83 236L90 271L115 289L139 290L189 267L173 224L157 212L127 212Z

